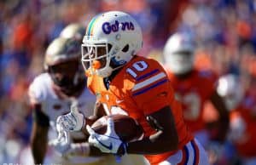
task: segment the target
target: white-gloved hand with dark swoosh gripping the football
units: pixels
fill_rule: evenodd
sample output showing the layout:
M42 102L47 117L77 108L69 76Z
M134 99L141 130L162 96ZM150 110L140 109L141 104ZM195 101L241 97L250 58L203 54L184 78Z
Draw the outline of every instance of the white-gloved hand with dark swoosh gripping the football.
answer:
M108 118L108 128L106 134L97 134L89 125L86 126L90 134L89 143L96 146L102 152L124 155L127 144L124 143L115 133L112 118Z

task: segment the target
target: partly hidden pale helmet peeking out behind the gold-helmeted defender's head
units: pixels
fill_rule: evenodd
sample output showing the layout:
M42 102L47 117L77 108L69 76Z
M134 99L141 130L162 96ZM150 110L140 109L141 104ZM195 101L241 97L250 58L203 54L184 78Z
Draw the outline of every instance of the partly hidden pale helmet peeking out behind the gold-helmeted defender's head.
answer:
M85 34L84 26L80 25L79 23L72 23L66 26L61 31L60 37L75 38L80 42L82 42L84 34Z

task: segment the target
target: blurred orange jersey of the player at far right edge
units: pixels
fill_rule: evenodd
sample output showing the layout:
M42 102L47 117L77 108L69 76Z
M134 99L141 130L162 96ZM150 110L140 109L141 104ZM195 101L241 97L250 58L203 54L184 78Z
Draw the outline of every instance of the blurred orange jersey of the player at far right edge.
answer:
M256 156L256 100L247 96L236 110L230 113L230 130L234 144L241 156ZM231 131L232 133L232 131Z

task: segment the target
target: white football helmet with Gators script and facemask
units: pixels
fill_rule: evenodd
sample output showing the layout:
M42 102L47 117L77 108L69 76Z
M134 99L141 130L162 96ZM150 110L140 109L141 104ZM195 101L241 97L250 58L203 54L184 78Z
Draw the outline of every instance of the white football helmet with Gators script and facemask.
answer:
M143 46L141 27L131 15L110 11L90 20L82 44L86 74L109 77Z

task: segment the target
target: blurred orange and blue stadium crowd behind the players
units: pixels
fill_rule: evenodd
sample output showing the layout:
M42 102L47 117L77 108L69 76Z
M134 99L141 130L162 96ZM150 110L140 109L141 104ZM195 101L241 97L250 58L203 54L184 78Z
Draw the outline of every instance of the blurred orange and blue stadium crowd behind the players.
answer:
M20 162L20 153L29 144L32 115L26 91L44 71L49 42L69 23L85 27L92 16L110 9L138 20L143 29L142 55L161 61L166 39L175 31L189 32L197 44L196 67L212 69L218 76L238 75L256 98L255 0L3 0L0 144L5 145L0 146L0 164ZM256 114L256 103L253 111ZM206 120L214 120L211 117L206 115Z

